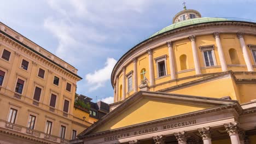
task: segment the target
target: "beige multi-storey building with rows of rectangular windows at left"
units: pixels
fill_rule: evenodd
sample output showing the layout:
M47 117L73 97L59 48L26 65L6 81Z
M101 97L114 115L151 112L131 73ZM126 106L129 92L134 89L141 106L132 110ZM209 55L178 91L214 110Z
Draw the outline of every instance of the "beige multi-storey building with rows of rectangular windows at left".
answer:
M81 79L72 65L0 23L0 143L75 139L92 124L74 110Z

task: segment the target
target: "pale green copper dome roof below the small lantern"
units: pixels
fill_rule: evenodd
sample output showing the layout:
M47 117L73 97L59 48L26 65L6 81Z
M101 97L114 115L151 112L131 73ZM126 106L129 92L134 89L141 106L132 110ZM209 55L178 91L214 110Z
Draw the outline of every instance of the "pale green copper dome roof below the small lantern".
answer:
M225 19L225 18L215 18L215 17L200 17L200 18L195 18L195 19L184 20L184 21L173 23L172 25L161 29L160 31L151 35L149 38L154 37L155 35L170 31L175 28L194 25L194 24L198 24L198 23L216 22L216 21L229 21L229 20Z

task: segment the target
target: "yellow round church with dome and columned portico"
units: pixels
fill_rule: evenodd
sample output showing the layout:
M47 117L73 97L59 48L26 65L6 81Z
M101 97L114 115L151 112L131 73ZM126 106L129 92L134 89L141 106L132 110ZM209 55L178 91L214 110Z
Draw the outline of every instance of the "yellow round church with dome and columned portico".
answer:
M119 59L112 111L79 142L256 143L255 71L255 22L184 7Z

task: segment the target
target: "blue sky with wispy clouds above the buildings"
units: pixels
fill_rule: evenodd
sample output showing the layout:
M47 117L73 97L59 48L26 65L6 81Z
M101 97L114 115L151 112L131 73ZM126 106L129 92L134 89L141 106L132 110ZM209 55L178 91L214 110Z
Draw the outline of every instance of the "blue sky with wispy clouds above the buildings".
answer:
M3 1L3 0L2 0ZM202 17L256 21L256 1L185 1ZM134 45L170 25L183 10L171 0L16 0L3 1L0 21L77 68L77 93L113 101L110 74ZM97 97L97 98L96 98Z

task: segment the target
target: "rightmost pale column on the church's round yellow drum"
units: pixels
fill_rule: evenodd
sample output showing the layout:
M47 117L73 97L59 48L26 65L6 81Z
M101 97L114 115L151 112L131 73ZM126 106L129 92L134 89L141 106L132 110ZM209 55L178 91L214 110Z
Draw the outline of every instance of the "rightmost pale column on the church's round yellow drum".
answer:
M246 44L245 44L245 39L243 39L244 33L238 32L236 35L237 35L237 38L240 41L240 45L241 45L241 48L242 48L242 51L243 51L243 58L245 59L247 70L248 71L253 71L252 62L249 58L249 54L248 54L247 47L246 47Z

